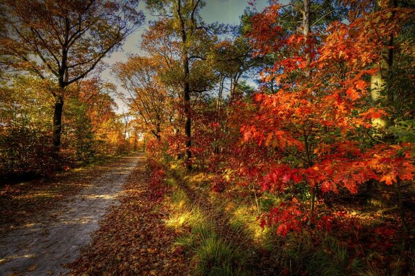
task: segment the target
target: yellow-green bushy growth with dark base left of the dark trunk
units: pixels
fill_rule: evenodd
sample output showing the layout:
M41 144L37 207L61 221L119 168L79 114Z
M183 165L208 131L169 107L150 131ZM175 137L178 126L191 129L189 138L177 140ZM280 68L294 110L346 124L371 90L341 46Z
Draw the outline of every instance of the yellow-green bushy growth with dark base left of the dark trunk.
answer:
M0 177L44 174L53 166L49 145L50 81L18 76L0 84Z

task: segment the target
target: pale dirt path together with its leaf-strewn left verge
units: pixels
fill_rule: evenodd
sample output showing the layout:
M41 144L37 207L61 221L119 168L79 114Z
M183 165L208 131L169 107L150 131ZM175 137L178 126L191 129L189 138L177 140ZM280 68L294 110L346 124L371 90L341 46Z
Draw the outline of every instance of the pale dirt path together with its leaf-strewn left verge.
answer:
M108 208L117 205L127 177L144 155L120 157L49 180L3 188L0 195L0 275L59 275Z

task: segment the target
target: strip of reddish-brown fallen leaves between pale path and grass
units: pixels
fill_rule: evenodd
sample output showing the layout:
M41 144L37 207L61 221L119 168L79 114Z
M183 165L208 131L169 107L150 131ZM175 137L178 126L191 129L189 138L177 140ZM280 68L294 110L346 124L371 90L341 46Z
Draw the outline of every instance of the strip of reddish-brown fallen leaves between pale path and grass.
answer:
M120 206L107 213L93 242L68 265L70 275L187 275L190 265L176 254L176 233L165 226L165 212L160 212L165 187L149 187L151 180L145 164L138 164Z

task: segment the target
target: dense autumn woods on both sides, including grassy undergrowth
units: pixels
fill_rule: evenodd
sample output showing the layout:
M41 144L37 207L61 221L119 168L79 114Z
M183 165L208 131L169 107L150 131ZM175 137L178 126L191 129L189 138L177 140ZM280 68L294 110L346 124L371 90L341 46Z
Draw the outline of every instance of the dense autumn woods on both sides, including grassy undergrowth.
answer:
M0 2L0 179L145 150L194 275L415 272L412 1L148 0L109 83L136 2Z

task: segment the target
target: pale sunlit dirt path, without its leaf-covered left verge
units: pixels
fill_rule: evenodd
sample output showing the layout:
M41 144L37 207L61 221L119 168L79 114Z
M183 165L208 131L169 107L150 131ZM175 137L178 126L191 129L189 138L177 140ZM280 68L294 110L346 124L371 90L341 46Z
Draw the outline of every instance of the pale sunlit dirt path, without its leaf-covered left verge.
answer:
M59 275L91 241L106 210L118 204L122 185L143 155L123 157L79 194L44 214L42 223L0 237L0 275Z

